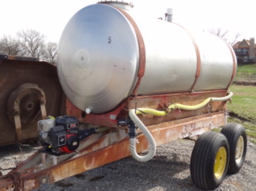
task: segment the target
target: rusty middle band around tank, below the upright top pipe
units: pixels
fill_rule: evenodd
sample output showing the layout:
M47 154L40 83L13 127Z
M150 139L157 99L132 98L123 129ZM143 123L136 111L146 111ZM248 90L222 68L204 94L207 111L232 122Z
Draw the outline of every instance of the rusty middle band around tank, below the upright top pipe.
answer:
M194 37L192 36L192 34L186 29L184 28L182 25L179 25L177 23L173 23L175 25L178 25L180 26L184 31L186 31L190 37L190 39L192 40L192 43L195 47L195 54L196 54L196 72L195 72L195 81L190 89L190 92L193 92L194 91L194 87L195 87L195 83L197 82L197 79L198 77L200 76L200 73L201 73L201 57L200 57L200 52L199 52L199 48L195 42L195 39Z

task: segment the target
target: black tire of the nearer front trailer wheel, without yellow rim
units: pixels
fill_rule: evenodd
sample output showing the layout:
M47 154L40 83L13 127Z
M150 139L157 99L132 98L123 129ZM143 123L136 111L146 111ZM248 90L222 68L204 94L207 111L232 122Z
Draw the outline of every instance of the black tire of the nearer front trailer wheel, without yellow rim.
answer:
M214 172L216 154L224 147L227 158L224 171L220 178ZM195 142L190 160L190 173L193 183L203 190L213 190L223 181L229 166L229 144L226 137L217 132L203 133Z

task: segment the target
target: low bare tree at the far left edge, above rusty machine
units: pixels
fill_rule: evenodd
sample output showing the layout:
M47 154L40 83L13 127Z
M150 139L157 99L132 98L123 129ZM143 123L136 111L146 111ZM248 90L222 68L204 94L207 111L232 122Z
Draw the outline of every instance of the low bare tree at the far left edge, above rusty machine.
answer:
M3 38L0 39L0 54L6 55L20 55L20 45L11 36L4 35Z

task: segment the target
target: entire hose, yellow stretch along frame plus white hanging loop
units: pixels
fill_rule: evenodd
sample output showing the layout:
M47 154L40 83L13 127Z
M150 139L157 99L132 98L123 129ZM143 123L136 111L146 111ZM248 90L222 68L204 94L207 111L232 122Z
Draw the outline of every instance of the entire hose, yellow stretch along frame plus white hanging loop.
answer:
M209 102L222 102L222 101L227 101L233 96L232 92L228 91L228 95L225 97L209 97L202 101L201 103L194 105L194 106L188 106L188 105L183 105L179 103L172 104L168 106L168 109L174 110L174 109L183 109L183 110L196 110L199 108L204 107L207 105ZM136 114L151 114L155 116L164 116L167 115L168 112L166 111L158 111L155 109L151 108L138 108L138 109L131 109L129 111L129 116L131 120L135 123L137 127L141 129L141 132L146 136L148 143L149 143L149 150L148 153L145 156L141 156L136 152L136 139L135 138L130 138L130 152L132 156L140 161L140 162L146 162L150 159L152 159L155 156L155 151L156 151L156 145L155 145L155 140L152 136L152 134L148 131L148 128L142 123L142 121L138 118Z

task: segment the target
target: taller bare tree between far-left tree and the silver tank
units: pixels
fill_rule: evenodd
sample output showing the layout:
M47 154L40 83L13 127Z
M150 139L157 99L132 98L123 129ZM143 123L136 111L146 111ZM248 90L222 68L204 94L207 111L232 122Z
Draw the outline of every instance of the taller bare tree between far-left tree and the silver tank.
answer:
M28 57L43 57L45 55L45 36L35 30L17 32L17 41L21 50Z

